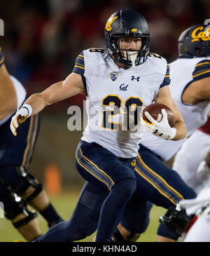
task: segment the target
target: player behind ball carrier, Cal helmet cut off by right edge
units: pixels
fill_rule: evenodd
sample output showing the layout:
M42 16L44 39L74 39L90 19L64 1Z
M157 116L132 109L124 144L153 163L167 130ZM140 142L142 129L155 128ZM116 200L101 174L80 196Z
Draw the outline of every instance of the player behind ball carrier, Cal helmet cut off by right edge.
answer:
M196 25L186 29L181 34L179 37L179 58L169 65L172 98L179 107L186 123L188 136L207 121L210 109L210 36L205 33L206 27ZM168 202L174 203L174 206L179 200L185 198L183 193L180 193L179 180L172 178L174 170L161 163L161 161L167 161L174 156L184 142L186 142L186 139L178 142L159 140L147 131L141 139L139 161L137 161L136 168L137 184L141 184L140 187L138 186L139 188L144 188L144 197L159 206L163 206L164 198ZM198 143L199 141L197 141ZM197 147L191 150L196 152ZM186 159L181 159L180 163L183 161L186 161ZM191 160L188 159L188 161ZM181 167L179 173L181 175ZM164 182L164 185L162 182ZM190 186L190 184L188 185ZM157 200L158 194L162 194L162 201ZM137 205L137 202L134 202L134 205ZM137 209L134 210L137 212ZM132 215L131 211L128 210L127 212ZM167 217L165 220L168 220ZM127 230L132 233L137 232L135 229L137 229L137 223L139 222L134 222L134 218L132 224L130 224L128 216L122 222L123 227L127 227ZM123 230L123 227L119 227L119 229ZM169 232L160 231L160 227L158 234L158 241L166 241L163 237L169 238L169 241L178 238L178 236L175 237Z

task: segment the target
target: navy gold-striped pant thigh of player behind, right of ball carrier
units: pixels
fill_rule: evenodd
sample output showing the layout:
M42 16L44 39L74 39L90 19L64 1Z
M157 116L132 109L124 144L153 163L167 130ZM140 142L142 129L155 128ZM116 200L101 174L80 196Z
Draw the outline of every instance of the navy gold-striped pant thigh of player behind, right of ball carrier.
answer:
M137 194L156 206L169 208L183 199L196 197L195 191L188 187L175 170L167 167L158 156L142 145L135 174Z

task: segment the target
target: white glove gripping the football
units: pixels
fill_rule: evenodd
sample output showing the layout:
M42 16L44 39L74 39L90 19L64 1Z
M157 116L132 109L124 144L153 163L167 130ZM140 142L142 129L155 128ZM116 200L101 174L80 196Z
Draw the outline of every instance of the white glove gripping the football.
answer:
M148 112L145 112L146 117L149 121L151 121L151 123L144 121L144 119L141 117L141 125L155 136L165 140L173 140L176 135L176 128L169 126L167 112L165 109L161 109L161 112L162 119L160 122L153 119L153 117Z

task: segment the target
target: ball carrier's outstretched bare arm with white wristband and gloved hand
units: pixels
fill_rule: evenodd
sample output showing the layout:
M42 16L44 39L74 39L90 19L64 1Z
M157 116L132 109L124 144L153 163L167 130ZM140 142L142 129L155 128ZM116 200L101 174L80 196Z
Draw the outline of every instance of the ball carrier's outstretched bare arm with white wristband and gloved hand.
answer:
M71 73L64 81L53 83L52 86L43 90L42 93L34 93L22 105L13 116L10 129L13 135L17 135L16 128L24 122L27 117L38 114L44 107L67 99L77 94L86 94L83 79L80 74Z

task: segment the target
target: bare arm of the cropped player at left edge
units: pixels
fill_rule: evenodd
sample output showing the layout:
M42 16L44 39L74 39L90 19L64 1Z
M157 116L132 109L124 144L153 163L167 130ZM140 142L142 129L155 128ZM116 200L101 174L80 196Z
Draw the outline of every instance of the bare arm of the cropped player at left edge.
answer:
M12 79L5 67L0 64L0 120L15 112L18 99Z

